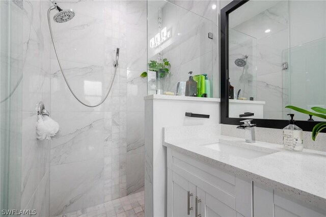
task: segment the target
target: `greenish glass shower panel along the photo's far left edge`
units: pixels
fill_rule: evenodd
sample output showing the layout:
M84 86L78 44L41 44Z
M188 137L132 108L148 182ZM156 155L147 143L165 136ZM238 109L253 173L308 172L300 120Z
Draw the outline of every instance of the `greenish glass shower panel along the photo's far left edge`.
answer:
M0 203L1 209L17 210L21 208L21 4L0 1Z

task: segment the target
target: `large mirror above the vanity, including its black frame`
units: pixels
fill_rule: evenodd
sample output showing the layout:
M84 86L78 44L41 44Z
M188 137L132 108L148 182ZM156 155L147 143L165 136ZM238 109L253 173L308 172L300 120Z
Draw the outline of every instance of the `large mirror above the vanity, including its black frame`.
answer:
M293 35L295 28L290 29L290 19L300 14L303 16L301 11L294 11L290 7L300 10L309 6L312 14L318 13L316 10L320 7L318 2L316 5L308 3L309 1L292 2L235 0L221 9L222 124L240 125L241 120L254 119L253 122L258 127L282 129L288 125L288 113L299 117L294 118L296 125L305 131L312 131L316 124L324 122L315 117L316 121L308 121L309 115L284 108L286 105L294 105L309 110L309 107L325 107L326 104L326 37L310 34L317 38L309 38L303 33L300 40L300 37ZM293 5L294 2L300 5ZM303 19L307 17L304 15ZM276 21L271 23L268 19ZM318 21L314 21L317 22L316 31ZM306 31L305 26L296 28L297 31ZM243 44L246 44L246 49L243 49ZM272 53L265 52L264 48ZM265 55L277 63L271 65L270 62L273 61L262 60L259 55ZM300 65L308 61L312 61L311 64ZM317 61L321 63L316 65ZM316 73L320 74L316 76ZM322 79L318 79L320 77ZM263 79L267 79L267 82ZM269 80L281 84L268 84ZM261 86L266 90L259 89ZM315 89L316 86L322 90ZM271 90L271 87L275 90ZM294 95L296 91L298 93ZM264 98L262 93L271 95ZM320 97L321 101L312 100ZM274 108L277 111L272 110Z

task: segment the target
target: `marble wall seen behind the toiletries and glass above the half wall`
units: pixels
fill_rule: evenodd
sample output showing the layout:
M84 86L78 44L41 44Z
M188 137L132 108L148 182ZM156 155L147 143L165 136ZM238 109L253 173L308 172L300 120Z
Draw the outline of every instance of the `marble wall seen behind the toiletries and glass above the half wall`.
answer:
M165 79L164 91L176 92L177 83L185 82L189 77L188 72L193 71L194 74L208 74L213 97L218 97L218 1L168 1L159 7L162 9L162 28L171 28L172 38L157 48L151 48L149 60L156 60L160 52L162 58L167 58L171 63L171 73ZM158 10L151 9L149 13L150 38L158 31ZM213 39L208 38L209 32L213 33Z

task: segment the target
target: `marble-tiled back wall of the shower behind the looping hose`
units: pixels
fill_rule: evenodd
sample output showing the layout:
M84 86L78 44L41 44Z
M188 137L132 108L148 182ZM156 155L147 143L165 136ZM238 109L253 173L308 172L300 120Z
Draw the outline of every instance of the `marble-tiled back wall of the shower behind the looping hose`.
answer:
M119 67L105 102L91 108L69 92L51 48L51 113L61 131L50 148L50 216L142 191L146 1L59 1L76 16L53 23L69 84L80 99L98 103Z

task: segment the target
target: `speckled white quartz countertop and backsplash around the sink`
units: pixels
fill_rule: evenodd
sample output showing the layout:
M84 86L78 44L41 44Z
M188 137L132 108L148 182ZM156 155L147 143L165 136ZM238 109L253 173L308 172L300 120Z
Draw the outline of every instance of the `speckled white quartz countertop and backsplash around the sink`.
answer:
M164 145L208 165L326 209L326 152L308 149L302 152L288 151L282 145L258 141L248 144L244 139L220 135L216 133L219 129L214 127L191 128L185 127L183 131L180 128L165 128ZM197 133L188 134L189 131ZM247 159L203 146L218 142L269 154Z

